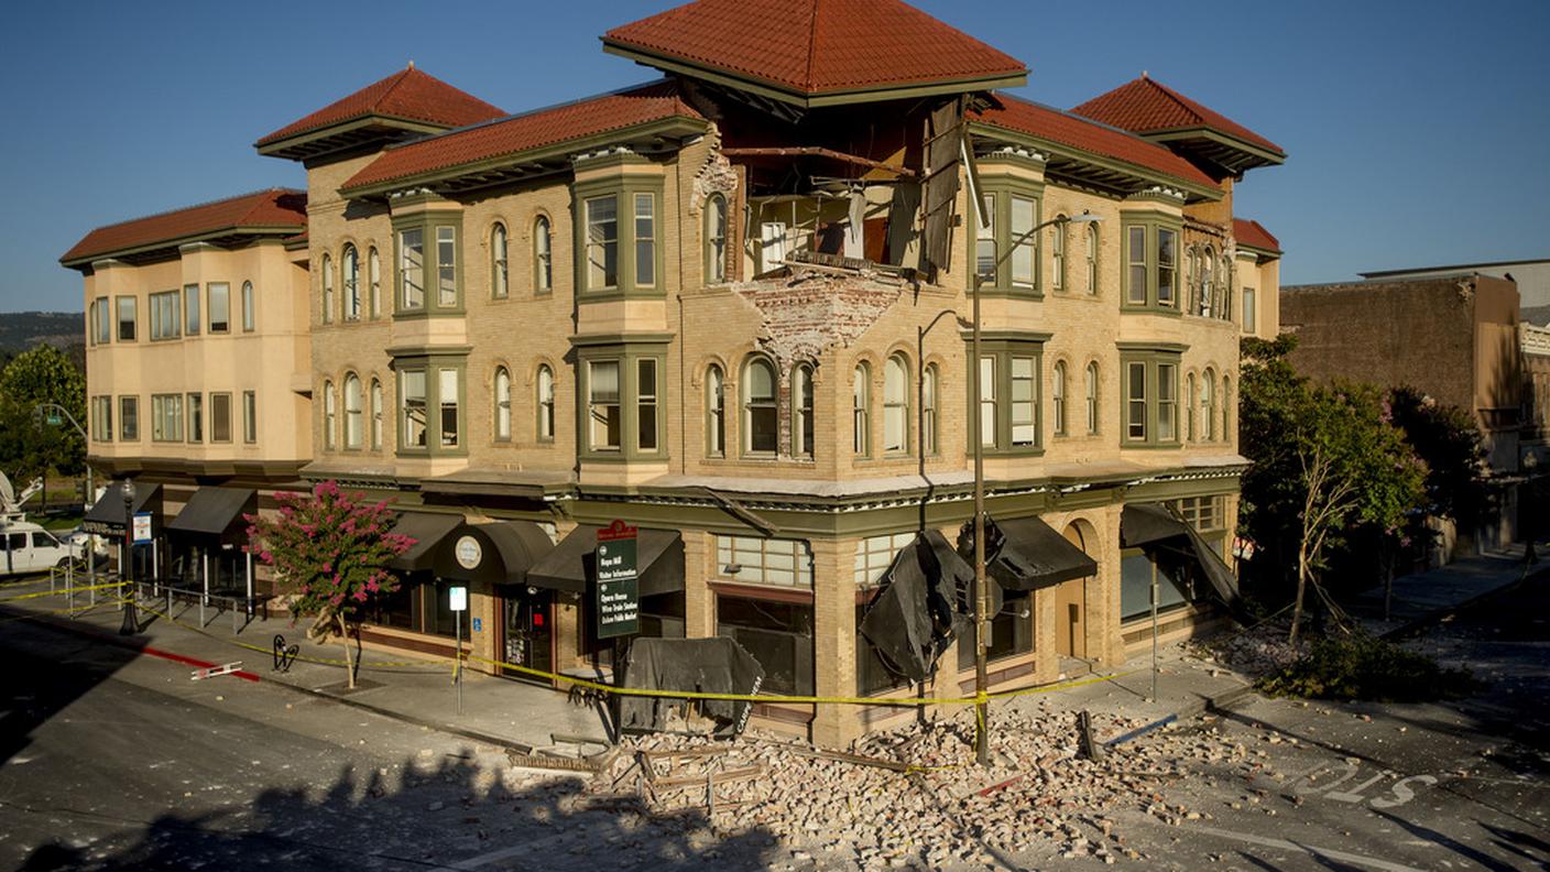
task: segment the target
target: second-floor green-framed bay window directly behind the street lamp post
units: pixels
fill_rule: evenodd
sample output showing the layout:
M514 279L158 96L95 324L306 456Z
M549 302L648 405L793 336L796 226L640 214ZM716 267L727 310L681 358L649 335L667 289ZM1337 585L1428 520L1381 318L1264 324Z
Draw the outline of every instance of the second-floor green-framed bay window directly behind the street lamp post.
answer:
M1048 338L1048 334L981 335L980 362L969 368L970 379L981 379L980 408L970 405L969 414L978 414L981 427L994 424L994 431L981 433L986 456L1045 453L1042 385ZM972 344L966 346L972 358ZM972 382L967 396L973 403Z

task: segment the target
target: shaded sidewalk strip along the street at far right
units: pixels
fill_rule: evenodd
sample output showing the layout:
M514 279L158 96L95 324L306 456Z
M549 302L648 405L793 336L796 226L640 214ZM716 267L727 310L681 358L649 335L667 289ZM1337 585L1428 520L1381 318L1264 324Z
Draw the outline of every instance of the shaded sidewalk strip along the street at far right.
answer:
M1524 568L1524 546L1511 545L1476 557L1463 557L1426 573L1393 580L1393 596L1384 619L1384 585L1376 585L1344 604L1369 632L1378 636L1403 635L1451 611L1516 585L1525 577L1550 571L1541 559Z

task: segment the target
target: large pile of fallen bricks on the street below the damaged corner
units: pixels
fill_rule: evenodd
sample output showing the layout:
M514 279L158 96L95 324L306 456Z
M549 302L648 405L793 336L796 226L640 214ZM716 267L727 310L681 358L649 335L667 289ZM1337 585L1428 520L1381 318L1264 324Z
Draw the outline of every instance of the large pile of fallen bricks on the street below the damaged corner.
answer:
M718 830L767 832L865 869L983 864L998 852L1035 849L1114 863L1142 855L1127 846L1111 811L1167 824L1198 819L1166 804L1162 787L1194 763L1257 768L1252 751L1215 729L1162 728L1088 760L1071 712L1001 709L990 723L989 768L973 762L972 711L868 735L849 754L773 737L634 737L597 773L589 794L657 819L677 813L691 827L704 818L682 811L698 810ZM1138 726L1093 717L1099 742Z

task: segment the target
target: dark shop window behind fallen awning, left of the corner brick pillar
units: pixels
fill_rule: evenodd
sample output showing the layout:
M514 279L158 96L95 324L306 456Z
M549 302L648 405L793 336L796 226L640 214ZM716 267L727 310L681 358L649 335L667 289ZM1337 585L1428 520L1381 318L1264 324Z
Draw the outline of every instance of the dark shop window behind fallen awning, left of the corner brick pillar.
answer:
M812 695L812 605L716 597L716 635L736 639L764 667L763 690Z

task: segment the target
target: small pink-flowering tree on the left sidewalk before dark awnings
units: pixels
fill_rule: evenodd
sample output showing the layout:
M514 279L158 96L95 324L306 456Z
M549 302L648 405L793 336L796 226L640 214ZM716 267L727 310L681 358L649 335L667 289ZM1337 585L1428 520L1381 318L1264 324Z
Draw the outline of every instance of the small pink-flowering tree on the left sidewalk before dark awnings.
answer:
M398 588L388 565L414 540L389 532L388 503L367 503L324 481L312 493L281 493L276 517L246 515L246 551L274 569L279 593L290 596L291 614L312 618L307 638L336 636L349 664L349 686L360 669L360 624L378 597ZM355 647L350 647L350 636Z

